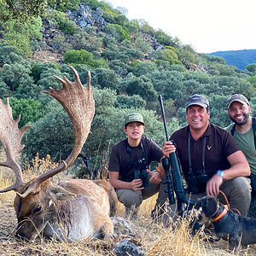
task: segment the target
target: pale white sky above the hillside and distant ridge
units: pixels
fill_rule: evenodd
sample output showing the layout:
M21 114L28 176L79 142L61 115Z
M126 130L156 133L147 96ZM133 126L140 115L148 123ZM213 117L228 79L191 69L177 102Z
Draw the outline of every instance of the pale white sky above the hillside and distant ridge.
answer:
M108 0L198 53L256 49L256 0Z

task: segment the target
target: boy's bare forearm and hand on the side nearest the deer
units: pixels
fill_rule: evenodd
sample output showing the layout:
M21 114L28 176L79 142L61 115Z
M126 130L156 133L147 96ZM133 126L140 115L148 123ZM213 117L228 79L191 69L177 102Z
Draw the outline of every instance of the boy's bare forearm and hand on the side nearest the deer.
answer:
M119 180L119 172L108 171L108 176L109 176L109 183L115 189L131 189L131 190L144 189L144 188L140 188L140 186L143 184L143 181L140 178L134 179L129 183L129 182L123 182Z

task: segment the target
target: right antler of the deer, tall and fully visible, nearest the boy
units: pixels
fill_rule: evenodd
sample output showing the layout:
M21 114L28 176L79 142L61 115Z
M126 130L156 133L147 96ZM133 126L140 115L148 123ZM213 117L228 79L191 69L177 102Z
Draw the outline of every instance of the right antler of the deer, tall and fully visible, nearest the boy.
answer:
M44 91L44 93L53 96L67 111L74 129L73 151L65 161L62 161L60 166L56 166L32 182L22 197L31 193L37 187L38 183L42 183L49 177L53 177L55 174L64 171L67 166L70 166L76 160L90 132L90 124L95 112L95 103L90 88L90 72L88 72L87 86L84 88L77 71L71 66L69 68L74 73L75 81L71 82L66 77L61 79L55 76L56 79L61 81L63 88L61 90L49 88L49 91Z

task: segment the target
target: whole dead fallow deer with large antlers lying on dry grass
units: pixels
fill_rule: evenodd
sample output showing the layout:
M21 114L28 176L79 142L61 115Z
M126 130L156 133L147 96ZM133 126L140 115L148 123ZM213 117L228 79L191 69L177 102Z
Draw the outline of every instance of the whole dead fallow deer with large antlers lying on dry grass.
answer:
M31 126L19 129L20 116L13 119L9 100L3 104L0 99L0 140L6 153L6 160L0 166L9 167L15 172L15 183L1 189L0 193L16 192L16 235L27 240L34 240L40 234L68 241L98 236L100 233L108 240L113 235L109 216L115 213L117 197L110 183L105 180L72 179L54 185L49 179L76 160L88 137L95 112L90 72L84 88L77 71L73 67L70 69L74 73L74 82L55 76L63 88L49 88L44 93L55 97L67 111L74 129L73 151L59 166L27 183L23 181L15 156L24 148L20 144L21 138Z

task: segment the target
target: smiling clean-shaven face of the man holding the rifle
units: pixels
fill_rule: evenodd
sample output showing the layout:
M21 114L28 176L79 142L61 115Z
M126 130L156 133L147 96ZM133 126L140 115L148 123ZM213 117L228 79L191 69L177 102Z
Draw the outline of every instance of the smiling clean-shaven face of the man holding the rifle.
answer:
M191 105L187 109L186 118L191 131L206 131L209 125L210 112L199 105Z

